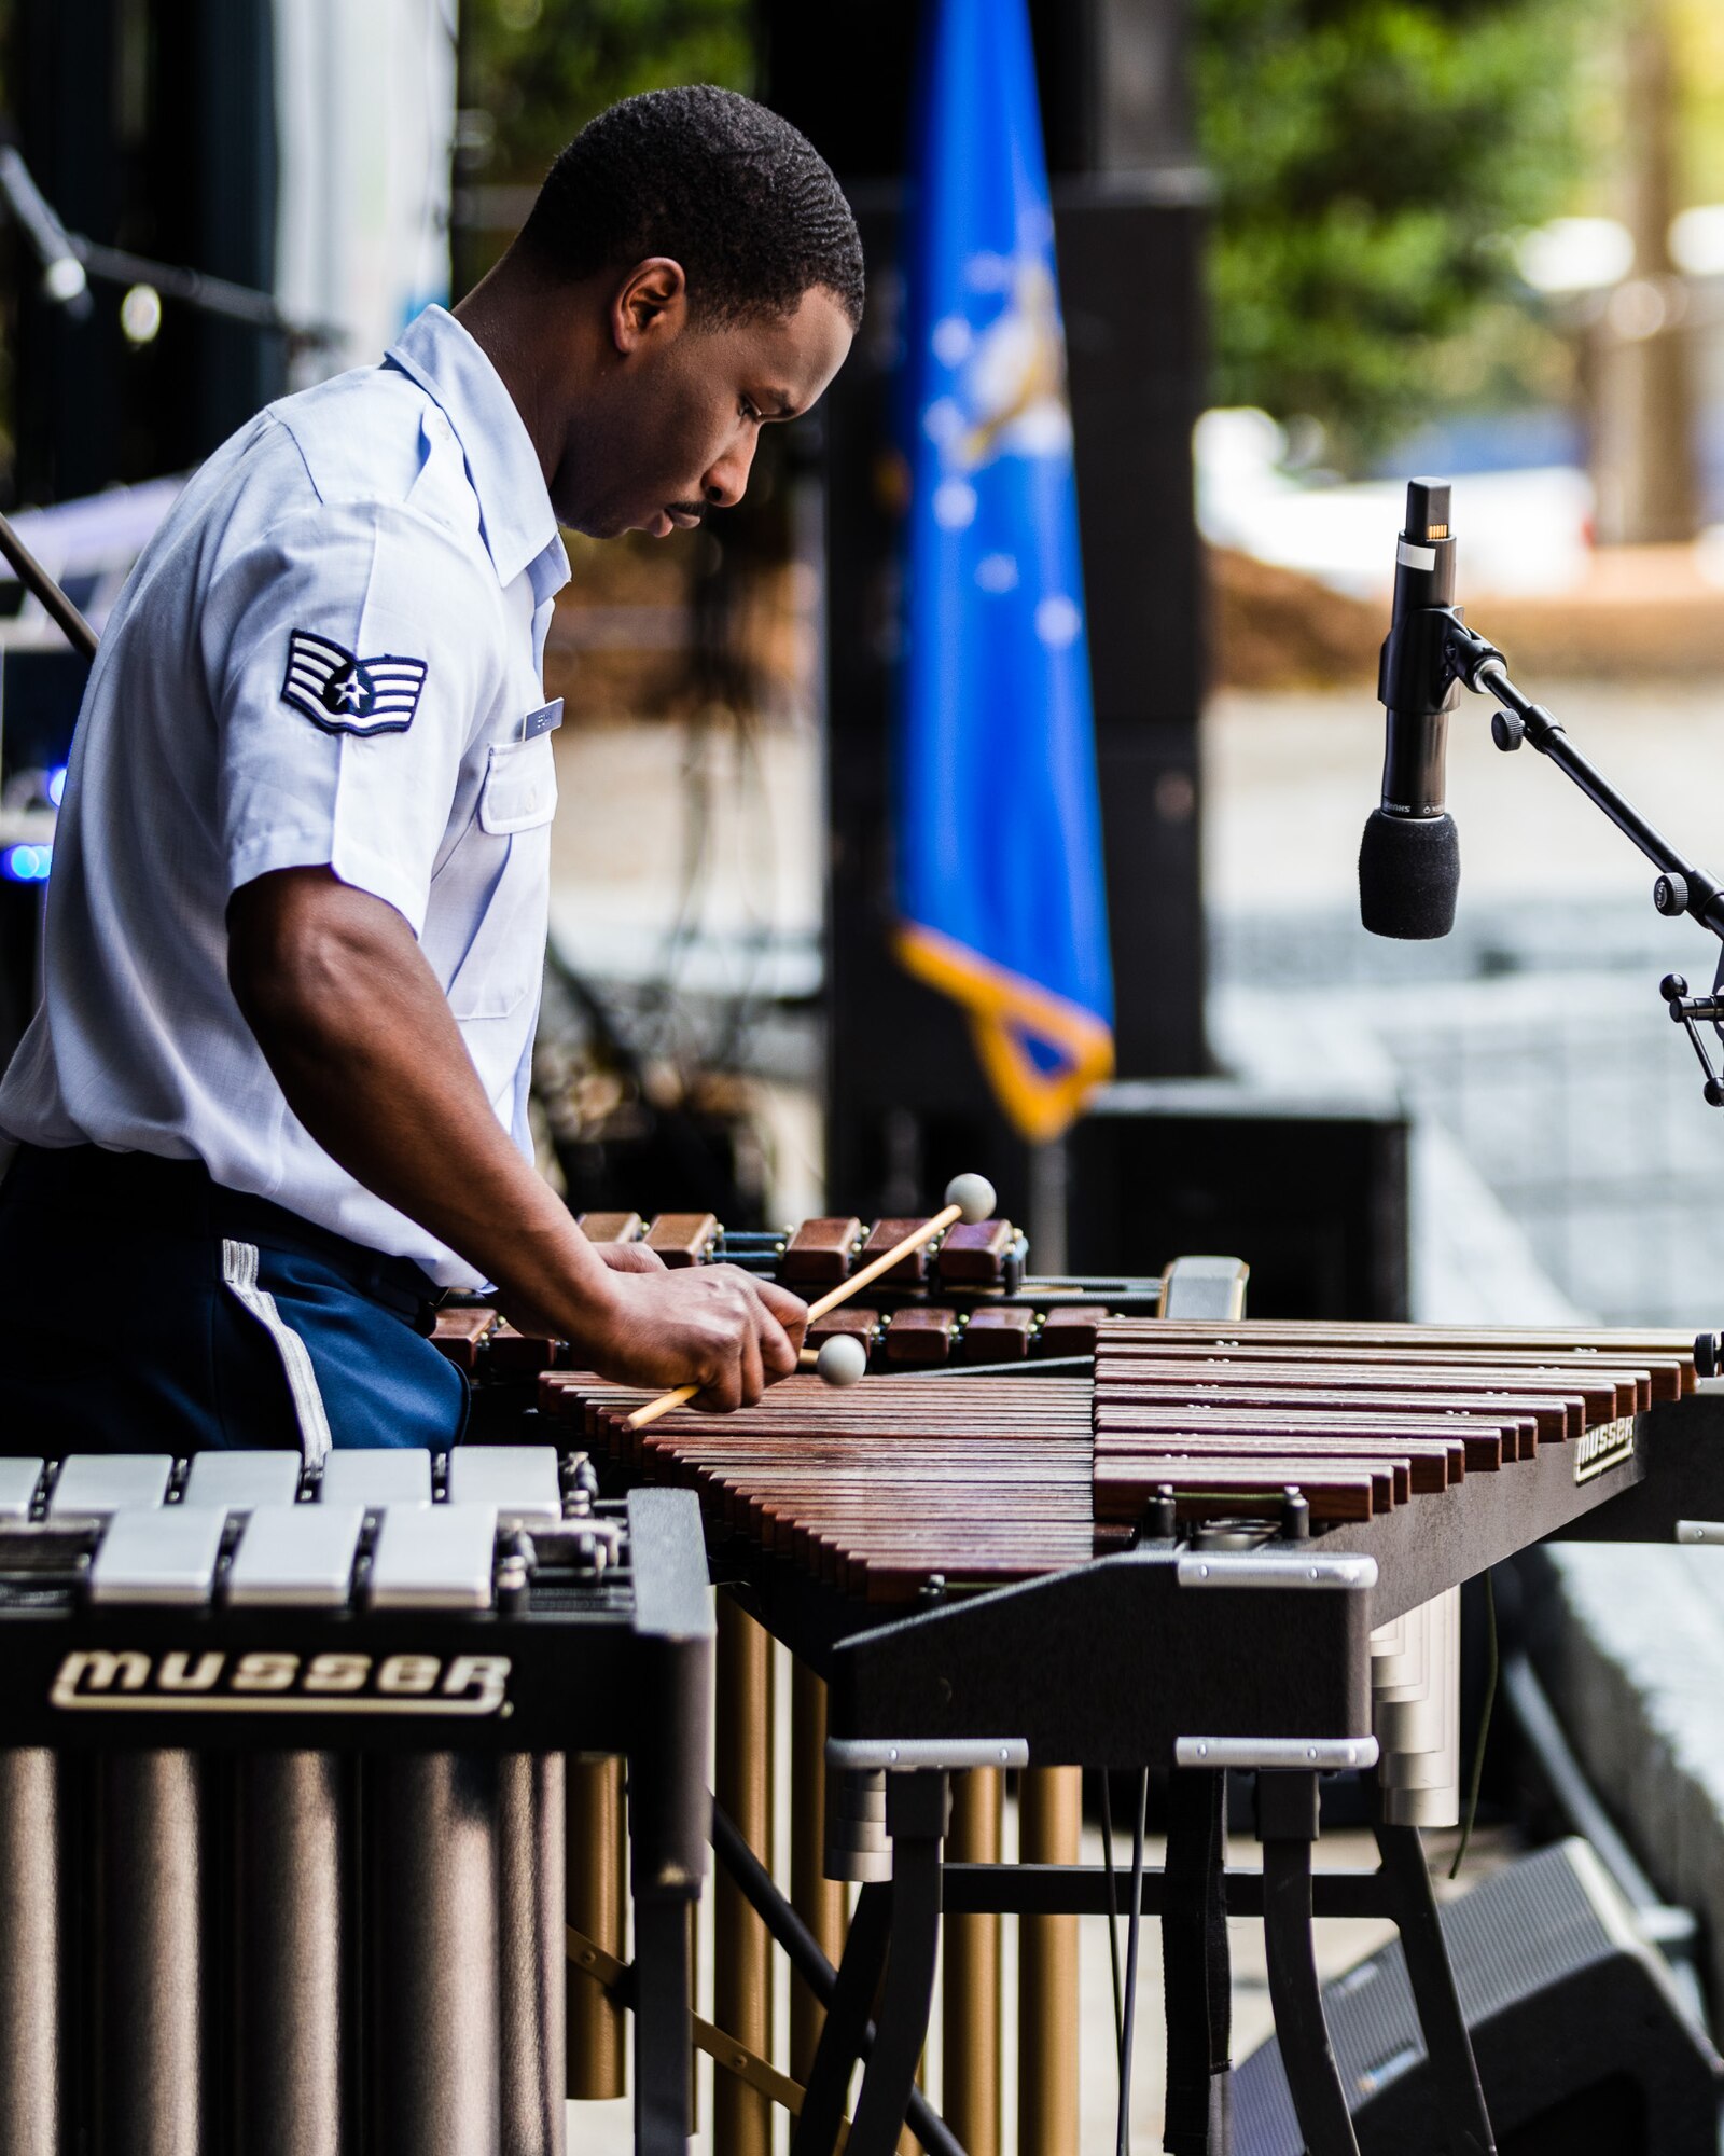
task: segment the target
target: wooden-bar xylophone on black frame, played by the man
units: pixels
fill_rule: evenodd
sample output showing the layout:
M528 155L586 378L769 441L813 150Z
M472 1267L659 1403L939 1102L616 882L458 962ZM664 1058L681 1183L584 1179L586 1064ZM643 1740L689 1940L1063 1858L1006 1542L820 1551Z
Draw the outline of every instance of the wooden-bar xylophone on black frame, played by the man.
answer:
M1668 1539L1679 1516L1724 1518L1718 1399L1696 1397L1692 1341L1670 1332L1254 1324L1237 1315L1243 1268L1205 1263L1190 1291L1179 1272L1166 1315L1099 1328L1093 1382L892 1376L875 1332L884 1373L856 1393L793 1378L756 1410L636 1434L642 1395L541 1380L541 1410L625 1479L700 1492L715 1561L828 1686L828 1871L864 1882L836 1979L756 1882L830 2007L804 2156L834 2145L877 1990L849 2147L894 2145L942 1910L970 1927L957 1960L993 1986L998 2027L998 1949L983 1930L978 1973L976 1927L1017 1912L1028 1951L1039 1927L1047 1945L1108 1908L1112 1882L1067 1861L985 1861L1000 1768L1030 1768L1026 1811L1065 1807L1047 1839L1075 1854L1075 1789L1049 1785L1080 1766L1172 1768L1168 1865L1140 1887L1164 1917L1170 2147L1226 2147L1224 1915L1256 1910L1308 2147L1353 2150L1312 1908L1396 1919L1450 2145L1491 2145L1418 1848L1420 1826L1457 1818L1457 1591L1545 1535ZM1317 1777L1373 1766L1381 1871L1312 1880ZM1226 1869L1228 1768L1256 1774L1263 1874ZM1026 1856L1056 1854L1030 1824ZM948 1986L953 1960L948 1945ZM950 1992L946 2016L953 2132L927 2106L912 2124L983 2156L998 2033L963 2005L955 2020ZM1056 2087L1019 2091L1021 2145L1073 2147L1075 2087L1047 2059L1034 2074Z

